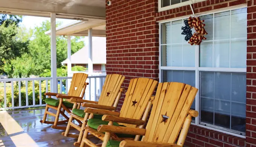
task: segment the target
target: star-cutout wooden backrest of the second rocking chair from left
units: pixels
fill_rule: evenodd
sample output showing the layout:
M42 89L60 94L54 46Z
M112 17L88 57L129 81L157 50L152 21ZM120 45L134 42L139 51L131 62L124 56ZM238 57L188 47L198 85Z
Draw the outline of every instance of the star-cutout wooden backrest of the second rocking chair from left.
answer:
M125 77L119 74L107 75L98 104L112 106L124 80Z

